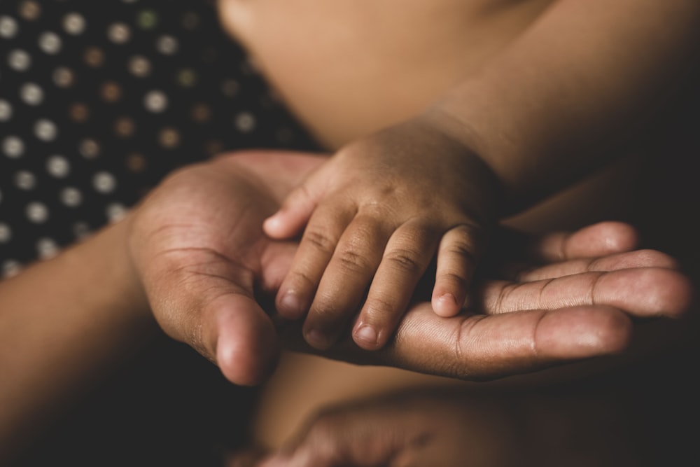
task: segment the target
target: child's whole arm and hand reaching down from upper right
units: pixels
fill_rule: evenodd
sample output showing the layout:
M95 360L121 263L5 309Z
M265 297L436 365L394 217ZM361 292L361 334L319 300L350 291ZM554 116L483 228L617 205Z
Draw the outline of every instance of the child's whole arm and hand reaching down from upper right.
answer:
M699 18L692 0L555 2L421 116L343 148L265 224L305 226L280 312L308 310L324 348L359 308L356 342L381 347L436 252L433 309L458 312L489 225L610 162L692 71Z

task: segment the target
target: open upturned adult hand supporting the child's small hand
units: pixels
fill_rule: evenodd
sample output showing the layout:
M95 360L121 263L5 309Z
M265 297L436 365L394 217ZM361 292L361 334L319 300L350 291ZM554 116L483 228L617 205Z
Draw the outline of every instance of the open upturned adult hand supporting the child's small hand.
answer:
M237 384L257 384L274 368L275 322L285 345L318 353L300 323L260 305L295 252L295 242L269 239L261 226L322 160L221 157L169 177L134 212L130 251L160 326ZM458 316L416 302L384 349L363 351L348 337L323 355L479 380L615 354L629 344L633 319L680 316L691 297L671 258L635 247L635 232L619 223L549 235L534 249L549 264L483 281Z

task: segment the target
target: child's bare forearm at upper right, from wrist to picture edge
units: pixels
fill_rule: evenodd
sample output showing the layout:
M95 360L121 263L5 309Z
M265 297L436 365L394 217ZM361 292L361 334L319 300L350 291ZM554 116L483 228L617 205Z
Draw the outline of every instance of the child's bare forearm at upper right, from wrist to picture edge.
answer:
M435 109L518 209L608 161L687 82L698 44L696 0L560 0Z

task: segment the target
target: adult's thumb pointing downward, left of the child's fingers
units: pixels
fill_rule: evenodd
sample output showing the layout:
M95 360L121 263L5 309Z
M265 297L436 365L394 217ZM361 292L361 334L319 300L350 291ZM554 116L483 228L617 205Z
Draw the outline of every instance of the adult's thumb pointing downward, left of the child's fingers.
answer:
M251 272L209 251L191 250L169 251L149 268L153 314L169 336L216 363L235 384L259 384L272 372L279 344L253 297Z

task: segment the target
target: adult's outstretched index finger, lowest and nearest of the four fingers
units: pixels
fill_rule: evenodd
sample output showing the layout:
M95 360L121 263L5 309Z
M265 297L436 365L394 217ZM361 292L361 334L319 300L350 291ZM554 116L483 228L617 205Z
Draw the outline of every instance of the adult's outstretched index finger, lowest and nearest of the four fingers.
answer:
M628 347L631 335L630 317L615 307L445 319L421 304L405 316L381 357L388 365L481 381L618 354Z

